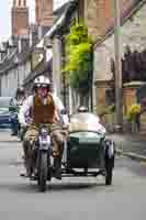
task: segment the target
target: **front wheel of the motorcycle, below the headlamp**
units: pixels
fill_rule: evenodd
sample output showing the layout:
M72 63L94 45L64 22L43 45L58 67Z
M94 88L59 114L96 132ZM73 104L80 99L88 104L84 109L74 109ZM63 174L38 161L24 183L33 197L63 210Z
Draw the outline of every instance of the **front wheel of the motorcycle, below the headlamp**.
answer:
M38 179L37 184L40 187L40 191L46 191L46 183L47 183L47 153L40 153L40 163L38 163Z

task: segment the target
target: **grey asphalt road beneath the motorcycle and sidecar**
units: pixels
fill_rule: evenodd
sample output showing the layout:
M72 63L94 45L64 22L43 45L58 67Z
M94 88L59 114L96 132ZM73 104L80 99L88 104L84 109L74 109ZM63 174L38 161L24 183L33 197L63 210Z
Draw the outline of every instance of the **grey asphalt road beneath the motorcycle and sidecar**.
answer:
M72 177L48 184L41 194L35 182L21 178L22 147L0 132L1 220L145 220L146 165L117 156L113 185L104 178Z

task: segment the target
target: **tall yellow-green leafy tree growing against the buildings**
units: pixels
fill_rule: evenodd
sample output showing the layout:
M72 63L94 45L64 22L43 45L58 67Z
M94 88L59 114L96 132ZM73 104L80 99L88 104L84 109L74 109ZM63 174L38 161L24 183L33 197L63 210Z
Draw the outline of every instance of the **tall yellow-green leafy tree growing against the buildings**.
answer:
M79 94L88 94L92 74L92 41L83 24L75 24L66 37L65 73L70 86Z

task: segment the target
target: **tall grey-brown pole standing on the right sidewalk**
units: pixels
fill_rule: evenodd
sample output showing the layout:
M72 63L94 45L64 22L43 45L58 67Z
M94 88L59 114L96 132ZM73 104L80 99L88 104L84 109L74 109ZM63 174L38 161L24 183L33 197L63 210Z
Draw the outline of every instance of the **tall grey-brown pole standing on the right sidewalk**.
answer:
M121 10L120 0L114 0L114 50L115 50L115 109L116 109L116 129L123 129L123 81L121 63Z

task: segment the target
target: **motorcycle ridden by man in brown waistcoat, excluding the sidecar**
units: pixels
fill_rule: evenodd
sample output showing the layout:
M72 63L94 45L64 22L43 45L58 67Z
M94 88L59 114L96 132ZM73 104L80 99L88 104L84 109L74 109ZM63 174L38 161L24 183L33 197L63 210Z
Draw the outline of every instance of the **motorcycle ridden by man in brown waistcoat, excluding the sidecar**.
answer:
M47 125L40 127L37 139L32 135L27 155L30 177L32 180L37 180L41 191L45 191L46 183L50 180L53 172L52 138Z

